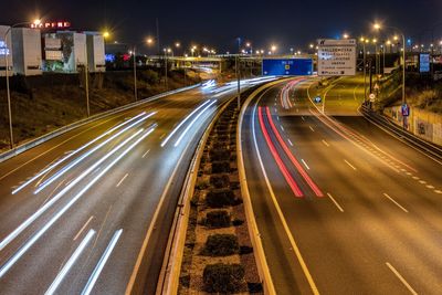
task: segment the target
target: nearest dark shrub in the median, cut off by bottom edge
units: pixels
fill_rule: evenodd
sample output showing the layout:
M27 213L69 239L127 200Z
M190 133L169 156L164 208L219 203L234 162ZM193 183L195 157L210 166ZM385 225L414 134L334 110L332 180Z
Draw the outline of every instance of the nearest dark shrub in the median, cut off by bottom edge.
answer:
M210 293L236 293L244 282L244 267L240 264L209 264L204 267L202 280Z

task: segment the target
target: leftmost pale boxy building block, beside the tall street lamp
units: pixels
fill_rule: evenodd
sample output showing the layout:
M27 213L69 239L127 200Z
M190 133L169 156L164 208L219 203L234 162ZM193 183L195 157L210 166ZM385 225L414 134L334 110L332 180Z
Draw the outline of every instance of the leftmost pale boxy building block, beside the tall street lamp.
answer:
M32 76L42 74L42 46L40 30L12 29L13 72Z

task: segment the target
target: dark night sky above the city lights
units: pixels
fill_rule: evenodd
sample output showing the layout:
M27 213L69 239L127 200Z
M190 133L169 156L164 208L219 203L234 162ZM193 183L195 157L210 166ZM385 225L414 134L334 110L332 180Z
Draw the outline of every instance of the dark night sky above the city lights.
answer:
M11 13L12 11L13 13ZM373 34L370 23L381 20L401 28L413 42L442 39L442 0L371 1L173 1L173 0L1 0L0 24L41 15L67 20L78 30L108 28L112 39L141 42L156 34L159 20L161 46L180 41L234 51L235 39L254 49L276 44L280 52L307 48L317 38Z

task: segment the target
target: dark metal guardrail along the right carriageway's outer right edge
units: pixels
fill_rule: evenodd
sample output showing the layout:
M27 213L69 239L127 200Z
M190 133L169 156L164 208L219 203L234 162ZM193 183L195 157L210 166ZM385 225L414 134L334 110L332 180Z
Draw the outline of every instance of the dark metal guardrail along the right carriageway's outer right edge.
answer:
M427 154L429 157L433 158L434 160L442 164L442 147L429 143L407 129L398 126L389 118L369 109L367 106L362 105L360 107L360 113L372 124L377 125L378 127L382 128L383 130L392 134L393 136L401 139L407 145L419 149L420 151Z

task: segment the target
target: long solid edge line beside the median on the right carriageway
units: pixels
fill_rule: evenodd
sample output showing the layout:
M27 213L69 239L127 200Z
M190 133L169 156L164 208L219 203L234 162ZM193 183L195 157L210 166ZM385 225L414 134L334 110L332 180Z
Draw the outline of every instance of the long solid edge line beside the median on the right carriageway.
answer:
M284 231L287 234L288 241L292 244L292 250L293 250L293 252L295 252L295 255L296 255L296 257L297 257L297 260L299 262L301 268L303 270L304 275L307 278L307 282L308 282L309 286L311 286L311 289L312 289L313 294L319 295L319 291L318 291L318 288L317 288L317 286L315 284L315 281L313 280L313 276L312 276L311 272L308 271L307 264L305 263L303 255L301 254L299 247L297 246L296 241L293 238L293 234L292 234L292 232L291 232L291 230L288 228L287 221L285 220L284 213L282 212L280 203L276 200L276 196L275 196L275 193L273 191L273 188L272 188L272 185L271 185L271 182L269 180L267 173L265 172L264 164L262 161L261 152L260 152L260 149L257 147L257 141L256 141L256 131L255 131L256 105L257 105L257 103L255 104L255 106L253 108L253 115L252 115L252 120L253 120L252 122L252 133L253 133L253 141L254 141L257 159L259 159L259 162L260 162L260 167L261 167L261 170L263 172L263 176L264 176L265 183L267 186L269 192L270 192L270 194L272 197L273 204L275 206L276 212L277 212L277 214L280 217L281 223L283 224Z

